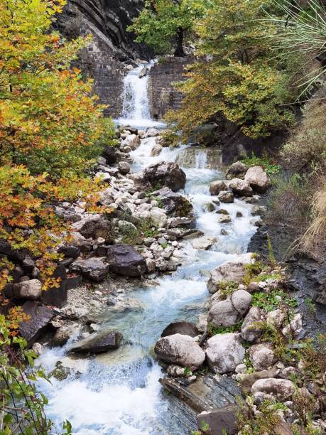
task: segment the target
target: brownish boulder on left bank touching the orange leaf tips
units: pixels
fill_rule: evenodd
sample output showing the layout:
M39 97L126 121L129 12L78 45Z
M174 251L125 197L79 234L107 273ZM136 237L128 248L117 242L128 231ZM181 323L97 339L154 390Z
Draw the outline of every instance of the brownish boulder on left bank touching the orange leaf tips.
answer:
M86 239L92 238L96 240L97 238L102 237L107 243L112 243L114 241L112 237L111 222L101 218L100 216L85 218L80 222L76 222L74 227Z

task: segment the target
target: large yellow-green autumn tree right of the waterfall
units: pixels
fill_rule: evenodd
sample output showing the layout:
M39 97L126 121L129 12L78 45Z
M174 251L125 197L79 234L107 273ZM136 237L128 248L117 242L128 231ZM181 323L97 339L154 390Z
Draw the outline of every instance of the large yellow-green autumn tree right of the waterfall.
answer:
M275 26L266 0L212 0L195 25L200 61L190 66L182 108L169 115L185 133L217 115L247 136L268 136L293 124L290 75L272 50Z

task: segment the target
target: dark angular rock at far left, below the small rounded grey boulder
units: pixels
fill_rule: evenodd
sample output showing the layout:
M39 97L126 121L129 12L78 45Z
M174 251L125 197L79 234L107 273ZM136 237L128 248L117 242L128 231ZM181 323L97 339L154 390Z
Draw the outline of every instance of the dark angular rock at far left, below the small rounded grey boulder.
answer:
M27 301L22 308L29 319L19 324L19 332L27 341L28 347L31 347L48 327L53 311L36 301Z

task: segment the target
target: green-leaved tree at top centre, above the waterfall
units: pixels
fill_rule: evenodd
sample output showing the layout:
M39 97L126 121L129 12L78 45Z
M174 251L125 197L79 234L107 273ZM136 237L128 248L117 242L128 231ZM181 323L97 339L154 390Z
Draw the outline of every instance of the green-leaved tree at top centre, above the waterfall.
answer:
M146 42L156 53L169 53L175 45L174 55L182 57L185 34L192 31L204 9L204 0L146 0L128 30L136 33L136 42Z

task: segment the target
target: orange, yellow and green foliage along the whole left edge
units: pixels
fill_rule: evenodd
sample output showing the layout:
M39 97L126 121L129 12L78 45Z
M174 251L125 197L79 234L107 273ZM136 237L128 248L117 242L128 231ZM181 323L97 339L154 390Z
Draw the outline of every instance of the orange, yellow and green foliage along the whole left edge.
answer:
M9 253L27 250L36 259L43 290L58 286L56 247L69 237L55 204L82 200L97 210L100 189L86 170L102 146L114 144L92 80L70 68L89 40L68 43L51 31L64 5L0 3L0 237ZM32 365L36 355L17 335L26 315L9 308L3 293L14 265L6 256L0 262L0 434L46 434L46 398L34 385L42 373L26 373L26 362Z

